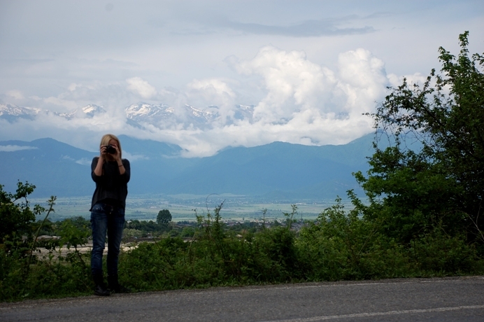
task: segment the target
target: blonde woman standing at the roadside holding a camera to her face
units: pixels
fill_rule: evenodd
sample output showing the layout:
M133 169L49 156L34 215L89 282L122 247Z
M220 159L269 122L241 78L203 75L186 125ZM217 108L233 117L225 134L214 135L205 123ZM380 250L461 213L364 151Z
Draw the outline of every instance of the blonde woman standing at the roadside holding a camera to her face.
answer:
M128 194L127 183L130 176L129 161L122 159L120 140L113 134L106 134L99 146L100 155L91 164L92 180L96 190L91 203L92 254L91 272L94 294L110 295L126 291L118 283L118 256L122 230L124 228L124 208ZM103 251L108 232L108 288L103 278Z

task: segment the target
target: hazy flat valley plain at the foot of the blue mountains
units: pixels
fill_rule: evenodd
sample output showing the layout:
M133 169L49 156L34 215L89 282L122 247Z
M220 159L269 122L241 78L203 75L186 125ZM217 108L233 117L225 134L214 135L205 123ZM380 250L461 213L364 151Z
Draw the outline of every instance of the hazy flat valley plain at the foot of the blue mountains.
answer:
M33 204L47 204L44 199L32 199ZM325 208L334 204L334 200L264 200L259 197L244 195L129 195L126 206L126 219L156 220L158 211L168 209L173 221L195 221L196 214L204 215L224 202L220 214L223 219L236 221L259 221L262 209L267 209L266 221L284 218L283 213L291 212L291 204L297 204L297 219L315 219ZM90 216L91 196L59 197L52 221L74 216ZM348 204L347 207L350 207Z

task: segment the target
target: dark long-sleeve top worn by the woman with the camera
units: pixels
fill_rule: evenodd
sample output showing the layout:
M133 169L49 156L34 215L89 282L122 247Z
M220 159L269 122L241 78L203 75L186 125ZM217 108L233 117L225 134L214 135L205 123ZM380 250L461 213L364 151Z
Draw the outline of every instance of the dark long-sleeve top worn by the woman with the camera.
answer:
M98 159L99 157L94 157L91 163L91 177L96 183L96 190L92 195L91 209L97 202L106 202L124 209L128 195L128 181L131 176L129 161L127 159L121 160L125 172L120 174L118 162L106 160L103 165L103 174L97 176L94 174L94 169L96 169Z

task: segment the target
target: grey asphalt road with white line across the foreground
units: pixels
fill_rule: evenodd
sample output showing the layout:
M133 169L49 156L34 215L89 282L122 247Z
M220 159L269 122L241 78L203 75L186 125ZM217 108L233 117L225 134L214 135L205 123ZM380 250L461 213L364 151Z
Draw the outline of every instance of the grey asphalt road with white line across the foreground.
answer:
M0 303L0 321L484 321L484 276Z

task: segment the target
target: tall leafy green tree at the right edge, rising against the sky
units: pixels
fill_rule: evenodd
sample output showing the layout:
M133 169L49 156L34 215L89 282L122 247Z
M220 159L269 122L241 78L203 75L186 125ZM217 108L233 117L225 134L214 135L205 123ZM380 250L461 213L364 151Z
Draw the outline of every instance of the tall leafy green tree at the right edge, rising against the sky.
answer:
M484 241L484 57L469 57L468 36L457 57L439 48L442 74L432 69L422 86L405 79L371 114L376 153L368 177L355 176L371 201L366 217L385 218L385 232L403 241L436 225ZM380 150L385 134L391 146Z

